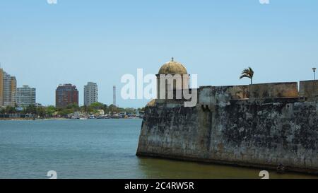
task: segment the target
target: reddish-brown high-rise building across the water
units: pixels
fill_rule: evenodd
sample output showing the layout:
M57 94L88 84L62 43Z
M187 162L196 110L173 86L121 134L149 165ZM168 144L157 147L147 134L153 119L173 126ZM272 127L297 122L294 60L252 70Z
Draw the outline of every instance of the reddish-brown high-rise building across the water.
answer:
M66 107L67 105L78 105L78 90L72 84L59 85L55 90L55 104L57 107Z

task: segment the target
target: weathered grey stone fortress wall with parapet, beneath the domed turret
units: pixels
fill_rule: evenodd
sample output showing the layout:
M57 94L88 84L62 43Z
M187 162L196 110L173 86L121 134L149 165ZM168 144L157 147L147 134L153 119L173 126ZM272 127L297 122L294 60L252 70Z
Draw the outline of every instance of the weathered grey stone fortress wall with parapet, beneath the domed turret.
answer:
M137 156L318 174L318 81L201 86L195 107L146 107Z

